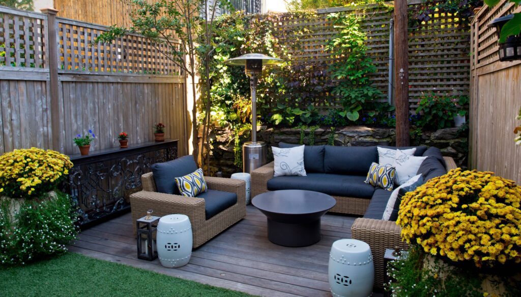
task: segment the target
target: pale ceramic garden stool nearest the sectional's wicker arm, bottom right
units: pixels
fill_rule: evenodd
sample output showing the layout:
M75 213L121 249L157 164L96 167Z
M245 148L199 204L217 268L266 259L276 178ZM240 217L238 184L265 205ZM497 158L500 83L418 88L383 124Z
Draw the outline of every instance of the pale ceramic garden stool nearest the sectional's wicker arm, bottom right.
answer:
M333 242L329 253L329 286L334 297L370 296L374 281L369 244L356 239Z

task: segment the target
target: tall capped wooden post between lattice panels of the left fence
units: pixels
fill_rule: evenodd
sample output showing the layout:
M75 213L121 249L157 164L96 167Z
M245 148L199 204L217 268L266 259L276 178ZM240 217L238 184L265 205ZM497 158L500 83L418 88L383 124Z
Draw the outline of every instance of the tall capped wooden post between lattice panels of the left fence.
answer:
M52 135L52 149L63 150L63 130L64 127L60 125L60 119L63 113L61 112L61 102L58 87L58 42L56 31L56 14L58 10L54 8L41 9L43 14L47 15L47 53L48 53L48 67L49 67L49 94L51 95L51 135Z

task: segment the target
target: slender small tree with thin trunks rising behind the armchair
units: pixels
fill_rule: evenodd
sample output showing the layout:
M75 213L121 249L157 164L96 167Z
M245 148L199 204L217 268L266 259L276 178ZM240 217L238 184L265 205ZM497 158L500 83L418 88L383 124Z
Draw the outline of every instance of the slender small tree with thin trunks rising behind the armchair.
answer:
M94 41L111 42L116 37L128 32L139 33L152 41L152 46L167 59L180 67L188 74L192 88L192 145L196 162L199 158L199 129L197 121L197 83L196 76L207 85L209 71L199 71L198 59L208 60L215 47L210 43L213 21L217 8L232 9L228 1L220 0L216 5L208 5L204 0L157 0L149 3L144 0L121 0L130 7L131 28L111 27L111 30L101 34ZM206 86L205 90L208 90ZM210 100L207 100L207 92L201 94L204 110L210 109ZM209 112L207 112L209 114ZM204 121L209 120L205 115ZM207 143L208 128L205 125L203 144ZM204 162L203 152L201 160ZM203 164L201 164L203 165Z

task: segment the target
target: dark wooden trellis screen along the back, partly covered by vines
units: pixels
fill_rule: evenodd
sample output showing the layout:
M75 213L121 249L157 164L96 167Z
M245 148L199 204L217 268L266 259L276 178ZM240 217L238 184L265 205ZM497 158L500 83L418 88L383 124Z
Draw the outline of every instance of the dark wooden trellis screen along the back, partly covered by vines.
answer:
M409 5L417 5L417 1ZM392 3L389 5L392 6ZM371 78L383 93L380 101L387 101L389 84L389 29L392 11L384 7L326 8L316 14L296 17L292 14L280 16L275 22L275 35L286 45L294 63L326 64L335 57L325 50L325 43L337 34L327 19L331 12L365 14L362 28L367 33L370 57L374 60L377 73ZM410 101L414 109L422 92L435 89L443 93L468 94L469 87L469 40L470 28L457 16L444 12L430 15L431 19L409 31L409 80ZM297 32L295 34L295 32ZM317 79L329 79L321 76ZM316 106L324 106L324 97L316 98ZM338 106L338 102L337 102ZM336 107L333 103L333 108Z

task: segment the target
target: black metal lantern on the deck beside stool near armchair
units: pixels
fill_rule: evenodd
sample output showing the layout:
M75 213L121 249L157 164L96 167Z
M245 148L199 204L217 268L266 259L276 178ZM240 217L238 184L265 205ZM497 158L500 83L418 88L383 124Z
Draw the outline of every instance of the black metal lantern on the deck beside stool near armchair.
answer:
M135 222L138 231L138 258L148 261L157 258L154 232L157 231L157 223L159 223L160 218L151 214L152 211L147 211L146 216Z

